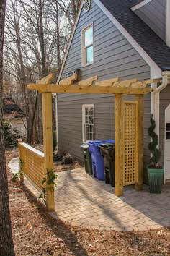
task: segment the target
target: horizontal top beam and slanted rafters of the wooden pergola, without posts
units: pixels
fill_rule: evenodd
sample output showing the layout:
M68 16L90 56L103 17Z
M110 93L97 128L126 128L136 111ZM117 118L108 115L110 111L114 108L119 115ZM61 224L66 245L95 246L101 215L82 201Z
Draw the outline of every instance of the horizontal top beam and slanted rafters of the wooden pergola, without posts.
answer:
M91 93L91 94L146 94L150 93L153 89L146 88L146 85L151 84L154 80L147 80L138 82L138 79L120 81L119 77L95 82L98 77L91 77L87 80L73 84L77 79L74 74L71 77L62 80L59 85L53 84L30 84L27 88L30 90L38 90L40 93Z

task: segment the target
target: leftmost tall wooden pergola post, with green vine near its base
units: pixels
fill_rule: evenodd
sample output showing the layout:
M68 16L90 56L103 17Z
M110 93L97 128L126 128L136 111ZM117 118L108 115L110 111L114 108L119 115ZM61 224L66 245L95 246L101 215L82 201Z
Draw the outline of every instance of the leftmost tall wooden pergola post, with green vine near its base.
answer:
M52 93L42 93L42 121L46 174L53 170ZM48 211L53 211L55 210L53 184L50 185L47 194L46 205Z

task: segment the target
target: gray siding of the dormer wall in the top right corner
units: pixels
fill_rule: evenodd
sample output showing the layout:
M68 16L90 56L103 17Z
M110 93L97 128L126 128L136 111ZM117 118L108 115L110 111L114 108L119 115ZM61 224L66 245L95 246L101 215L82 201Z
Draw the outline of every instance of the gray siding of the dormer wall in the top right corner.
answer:
M151 29L166 42L166 0L153 0L135 10Z

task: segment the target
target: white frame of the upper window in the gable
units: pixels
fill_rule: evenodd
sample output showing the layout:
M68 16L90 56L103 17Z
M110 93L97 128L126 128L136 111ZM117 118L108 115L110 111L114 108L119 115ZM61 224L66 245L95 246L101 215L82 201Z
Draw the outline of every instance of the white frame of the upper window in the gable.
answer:
M89 46L93 46L93 60L89 63L86 63L86 48L89 46L87 46L87 47L84 46L84 43L85 43L84 35L85 35L85 31L88 30L90 27L92 27L92 29L93 29L93 43L91 45L89 45ZM81 66L86 67L91 64L94 64L94 25L93 25L93 22L91 24L89 24L88 26L84 27L83 30L81 30Z

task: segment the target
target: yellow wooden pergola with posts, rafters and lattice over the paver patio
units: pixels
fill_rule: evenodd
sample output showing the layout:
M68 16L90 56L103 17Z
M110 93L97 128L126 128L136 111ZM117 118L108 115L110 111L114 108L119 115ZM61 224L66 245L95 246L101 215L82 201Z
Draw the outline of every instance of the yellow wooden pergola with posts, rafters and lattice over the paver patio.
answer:
M77 75L62 80L59 85L50 84L53 74L43 78L38 84L27 85L30 90L38 90L42 93L42 120L43 120L43 137L44 137L44 153L45 153L45 170L53 169L53 137L52 137L52 93L91 93L91 94L112 94L115 95L115 195L123 195L123 186L132 184L124 179L123 171L127 167L126 159L135 159L133 184L135 189L140 190L143 187L143 101L146 93L151 93L153 89L147 88L148 84L155 80L147 80L138 82L137 79L120 81L119 78L110 80L97 81L97 76L91 77L76 83ZM47 84L48 83L48 84ZM123 101L124 95L135 95L135 101ZM134 108L131 108L133 104ZM128 142L126 138L125 145L125 129L130 129L131 121L125 124L125 106L130 106L133 115L133 142ZM131 109L131 110L130 110ZM128 127L128 128L126 128ZM128 133L127 133L128 134ZM133 135L133 134L132 134ZM132 137L131 135L131 137ZM128 136L128 135L127 135ZM131 139L130 139L131 140ZM128 151L128 143L134 145L131 153ZM126 148L126 152L125 152ZM127 153L128 152L128 153ZM125 156L129 154L129 156ZM132 158L133 154L133 158ZM129 158L128 158L129 157ZM131 163L130 163L131 164ZM47 198L48 210L54 210L54 193L50 192Z

